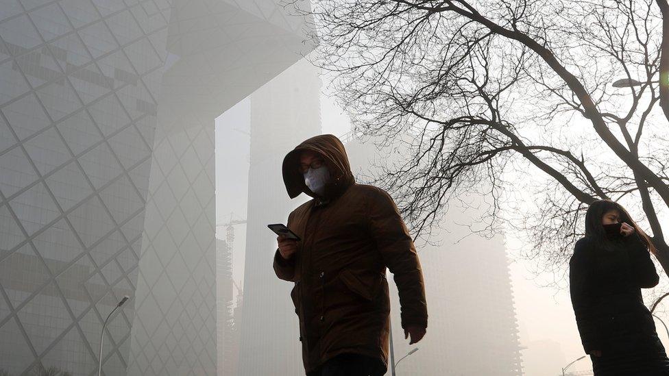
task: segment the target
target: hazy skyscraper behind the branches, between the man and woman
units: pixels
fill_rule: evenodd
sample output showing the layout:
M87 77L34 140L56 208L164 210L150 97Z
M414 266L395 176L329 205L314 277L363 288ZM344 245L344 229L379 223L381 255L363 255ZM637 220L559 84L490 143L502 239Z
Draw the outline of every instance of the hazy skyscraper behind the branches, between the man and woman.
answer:
M373 165L380 158L372 142L349 136L345 146L354 174L374 173ZM433 232L431 240L437 245L418 250L429 318L427 334L417 344L409 346L404 340L398 292L389 277L395 362L418 349L398 364L397 372L413 376L520 376L520 342L504 240L471 234L464 225L480 215L472 208L481 203L481 197L461 199L469 202L470 208L449 203L441 229Z

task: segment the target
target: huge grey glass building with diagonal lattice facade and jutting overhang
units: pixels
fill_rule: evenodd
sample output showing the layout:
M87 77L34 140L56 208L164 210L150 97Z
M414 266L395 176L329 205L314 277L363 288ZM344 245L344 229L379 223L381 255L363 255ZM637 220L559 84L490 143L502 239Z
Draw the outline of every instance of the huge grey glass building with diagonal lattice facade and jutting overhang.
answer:
M0 371L217 373L214 119L311 49L278 0L0 1Z

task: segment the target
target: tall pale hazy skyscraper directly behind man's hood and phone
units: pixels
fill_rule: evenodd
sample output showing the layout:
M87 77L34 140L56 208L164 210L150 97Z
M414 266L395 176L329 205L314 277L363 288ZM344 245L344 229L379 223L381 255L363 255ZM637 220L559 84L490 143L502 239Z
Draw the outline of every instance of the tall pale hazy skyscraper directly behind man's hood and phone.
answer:
M320 134L320 80L307 61L297 62L251 97L251 166L247 214L240 376L304 373L292 284L272 271L276 235L267 225L286 223L308 199L289 199L281 175L284 155Z

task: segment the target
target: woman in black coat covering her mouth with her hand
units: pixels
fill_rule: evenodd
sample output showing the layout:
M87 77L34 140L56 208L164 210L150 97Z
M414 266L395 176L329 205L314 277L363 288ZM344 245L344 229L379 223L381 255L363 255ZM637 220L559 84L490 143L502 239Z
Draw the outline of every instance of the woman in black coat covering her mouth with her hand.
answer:
M576 324L596 376L669 375L669 360L641 294L657 285L655 248L618 203L590 205L569 279Z

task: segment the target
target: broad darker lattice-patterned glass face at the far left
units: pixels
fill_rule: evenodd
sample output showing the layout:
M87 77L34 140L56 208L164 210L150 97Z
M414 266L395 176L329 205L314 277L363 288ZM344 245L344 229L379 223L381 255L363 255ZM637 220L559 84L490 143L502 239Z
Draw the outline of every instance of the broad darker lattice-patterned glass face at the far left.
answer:
M134 295L167 1L0 5L0 369L97 371ZM107 328L124 374L132 301Z

